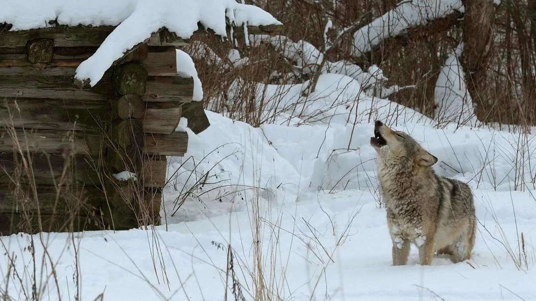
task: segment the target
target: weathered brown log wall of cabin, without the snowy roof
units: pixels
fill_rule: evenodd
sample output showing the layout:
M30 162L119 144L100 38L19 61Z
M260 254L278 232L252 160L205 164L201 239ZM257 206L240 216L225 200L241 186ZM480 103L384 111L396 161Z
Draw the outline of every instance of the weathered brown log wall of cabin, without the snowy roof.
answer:
M112 30L0 33L0 234L159 223L166 156L187 151L175 129L193 80L176 75L181 41L157 33L80 86L76 67ZM125 170L136 179L115 179Z

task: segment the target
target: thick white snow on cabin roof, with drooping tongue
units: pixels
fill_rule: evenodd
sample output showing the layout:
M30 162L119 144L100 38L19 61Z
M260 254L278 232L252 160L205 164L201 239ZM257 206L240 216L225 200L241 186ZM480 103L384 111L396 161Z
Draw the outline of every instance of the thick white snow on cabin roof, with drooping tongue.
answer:
M117 26L93 56L82 62L75 77L94 86L125 51L166 27L188 39L198 22L225 36L227 22L235 26L281 25L259 7L235 0L0 0L0 24L10 31L51 27Z

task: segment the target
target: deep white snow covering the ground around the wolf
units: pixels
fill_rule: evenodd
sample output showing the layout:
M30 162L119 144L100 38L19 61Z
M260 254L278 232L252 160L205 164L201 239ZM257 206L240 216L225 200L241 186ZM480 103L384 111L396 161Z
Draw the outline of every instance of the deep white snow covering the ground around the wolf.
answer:
M181 118L188 152L168 159L161 226L0 237L2 294L28 299L35 283L50 300L222 300L234 299L238 285L247 300L260 299L260 287L273 300L536 299L536 134L438 128L344 74L322 74L303 96L307 86L258 84L257 101L273 101L260 127L206 111L211 126L195 135ZM375 119L436 156L438 175L470 185L478 218L472 259L453 264L437 255L420 266L412 245L408 265L392 266L389 232L400 229L388 229L381 204L369 144ZM415 243L425 240L417 235ZM403 247L400 237L394 243Z

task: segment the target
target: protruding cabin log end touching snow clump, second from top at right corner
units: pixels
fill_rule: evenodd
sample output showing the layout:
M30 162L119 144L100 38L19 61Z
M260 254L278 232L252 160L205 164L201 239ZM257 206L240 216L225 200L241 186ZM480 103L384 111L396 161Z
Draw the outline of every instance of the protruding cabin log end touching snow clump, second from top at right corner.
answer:
M193 79L173 77L149 77L147 79L144 101L154 102L191 102Z

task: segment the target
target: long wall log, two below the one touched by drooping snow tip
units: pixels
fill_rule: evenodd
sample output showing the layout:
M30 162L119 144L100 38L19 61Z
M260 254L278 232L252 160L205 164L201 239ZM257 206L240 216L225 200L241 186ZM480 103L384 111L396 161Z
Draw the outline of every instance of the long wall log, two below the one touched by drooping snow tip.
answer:
M39 152L48 154L99 155L86 140L100 140L99 135L58 130L0 129L0 152Z

